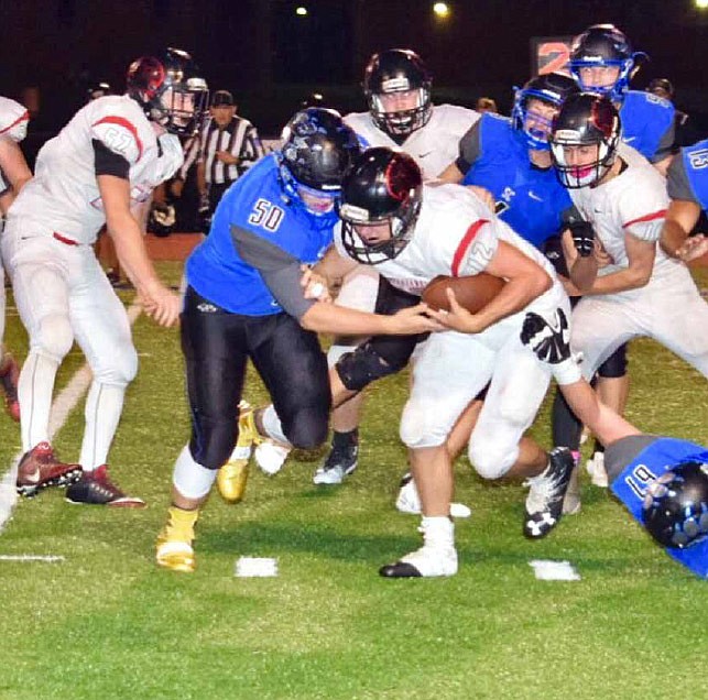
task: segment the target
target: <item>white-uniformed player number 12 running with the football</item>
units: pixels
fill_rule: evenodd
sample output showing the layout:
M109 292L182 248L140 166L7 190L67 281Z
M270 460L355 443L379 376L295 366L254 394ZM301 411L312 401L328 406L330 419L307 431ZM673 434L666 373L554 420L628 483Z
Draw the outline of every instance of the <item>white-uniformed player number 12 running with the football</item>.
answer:
M394 565L385 577L451 576L457 554L450 515L453 468L445 441L460 413L489 382L484 407L469 442L470 461L488 479L531 481L524 534L547 535L560 518L573 470L568 450L547 453L520 440L533 422L552 374L522 343L525 313L557 325L569 314L568 298L551 264L482 201L459 185L423 185L407 154L385 147L366 151L342 185L342 223L335 245L315 273L328 283L357 263L375 264L401 292L420 296L437 275L486 271L507 284L479 314L453 304L435 317L451 330L432 335L420 348L413 385L401 423L421 492L425 545ZM351 361L330 375L335 404L370 381L369 369L385 359L380 337L360 346ZM574 361L554 368L563 384L579 380ZM513 387L513 390L511 389Z

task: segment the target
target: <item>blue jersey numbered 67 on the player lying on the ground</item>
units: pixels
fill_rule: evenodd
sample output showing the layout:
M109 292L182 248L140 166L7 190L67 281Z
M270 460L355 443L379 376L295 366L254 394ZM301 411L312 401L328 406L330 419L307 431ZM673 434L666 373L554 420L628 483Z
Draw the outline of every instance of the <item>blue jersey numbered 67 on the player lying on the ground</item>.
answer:
M612 481L612 491L632 516L643 523L642 503L649 484L672 467L686 461L708 462L708 450L687 440L657 438ZM686 549L667 547L666 554L694 573L708 578L708 539L697 542Z

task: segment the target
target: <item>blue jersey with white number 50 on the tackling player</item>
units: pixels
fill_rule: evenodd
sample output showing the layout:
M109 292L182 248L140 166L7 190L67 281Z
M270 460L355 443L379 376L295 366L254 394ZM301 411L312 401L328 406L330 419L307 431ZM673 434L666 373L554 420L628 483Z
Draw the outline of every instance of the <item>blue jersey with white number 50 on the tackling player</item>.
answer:
M333 240L337 215L315 217L281 189L275 155L261 158L221 197L209 236L186 263L187 283L232 314L269 316L284 309L263 282L258 265L239 255L236 238L262 241L262 270L319 260Z

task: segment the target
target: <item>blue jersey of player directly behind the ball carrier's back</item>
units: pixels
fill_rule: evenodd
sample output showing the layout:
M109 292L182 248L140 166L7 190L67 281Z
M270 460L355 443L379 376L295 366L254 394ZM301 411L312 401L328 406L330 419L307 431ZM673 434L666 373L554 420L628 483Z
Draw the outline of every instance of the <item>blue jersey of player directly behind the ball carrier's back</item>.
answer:
M499 217L536 248L563 229L563 214L573 207L553 167L532 165L529 145L511 120L484 113L478 122L479 155L462 185L492 193Z

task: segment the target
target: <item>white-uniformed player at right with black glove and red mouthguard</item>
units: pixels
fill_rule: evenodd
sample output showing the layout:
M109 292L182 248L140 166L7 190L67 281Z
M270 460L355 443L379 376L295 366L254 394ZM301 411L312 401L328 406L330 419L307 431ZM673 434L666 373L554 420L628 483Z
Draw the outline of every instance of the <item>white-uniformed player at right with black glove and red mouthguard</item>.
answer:
M686 265L658 245L668 196L662 175L620 145L621 122L608 98L569 98L554 121L552 156L577 209L590 223L564 252L584 295L573 314L570 344L582 373L623 342L647 336L708 376L708 304ZM609 264L598 266L599 248Z

